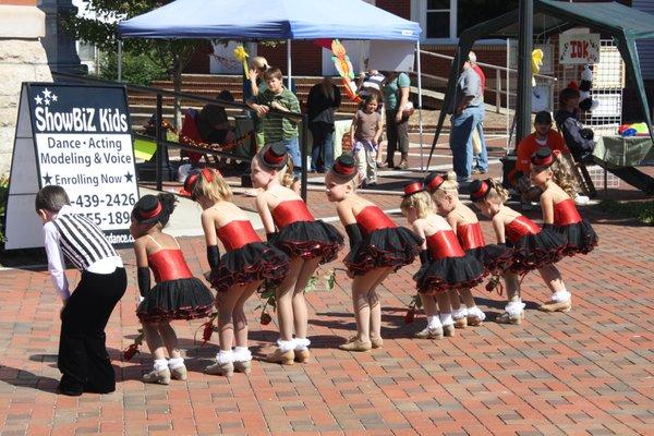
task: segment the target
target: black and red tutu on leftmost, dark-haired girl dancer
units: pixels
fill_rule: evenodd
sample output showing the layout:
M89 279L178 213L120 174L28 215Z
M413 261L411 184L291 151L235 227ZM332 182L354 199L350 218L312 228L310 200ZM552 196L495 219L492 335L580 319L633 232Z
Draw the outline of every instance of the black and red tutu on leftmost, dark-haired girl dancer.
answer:
M214 295L197 278L161 281L138 304L136 315L142 323L197 319L211 314Z

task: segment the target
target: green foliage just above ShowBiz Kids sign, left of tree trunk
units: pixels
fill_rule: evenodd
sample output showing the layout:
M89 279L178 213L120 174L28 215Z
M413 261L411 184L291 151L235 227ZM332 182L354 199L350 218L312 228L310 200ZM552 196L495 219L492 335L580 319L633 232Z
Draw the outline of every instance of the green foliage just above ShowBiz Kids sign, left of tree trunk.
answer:
M108 81L118 77L118 55L109 52L100 60L100 76ZM126 53L123 57L122 80L136 85L149 85L153 81L168 77L168 71L149 55Z

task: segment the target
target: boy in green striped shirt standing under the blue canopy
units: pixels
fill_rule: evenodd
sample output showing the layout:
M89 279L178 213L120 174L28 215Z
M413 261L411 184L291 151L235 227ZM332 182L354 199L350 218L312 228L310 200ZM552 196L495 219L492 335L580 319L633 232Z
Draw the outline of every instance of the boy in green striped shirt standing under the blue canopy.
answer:
M298 141L298 122L293 119L270 112L276 109L282 112L300 112L298 97L283 86L283 76L278 68L268 69L264 73L267 88L250 98L246 104L262 119L264 144L283 143L293 159L293 174L301 173L300 143Z

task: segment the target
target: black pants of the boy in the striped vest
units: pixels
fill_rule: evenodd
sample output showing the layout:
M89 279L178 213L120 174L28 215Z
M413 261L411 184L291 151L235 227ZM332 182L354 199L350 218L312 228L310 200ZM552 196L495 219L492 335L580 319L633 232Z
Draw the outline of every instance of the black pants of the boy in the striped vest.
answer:
M105 327L126 287L124 268L112 274L82 272L82 280L61 314L57 362L63 374L60 390L98 393L116 390L116 375L105 347Z

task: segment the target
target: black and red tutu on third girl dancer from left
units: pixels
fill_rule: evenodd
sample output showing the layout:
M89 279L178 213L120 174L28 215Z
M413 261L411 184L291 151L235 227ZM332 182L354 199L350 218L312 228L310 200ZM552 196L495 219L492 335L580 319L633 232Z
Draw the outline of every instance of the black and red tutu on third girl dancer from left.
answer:
M284 226L268 239L268 243L289 257L320 257L320 264L325 264L334 261L343 247L343 235L334 226L316 219Z

